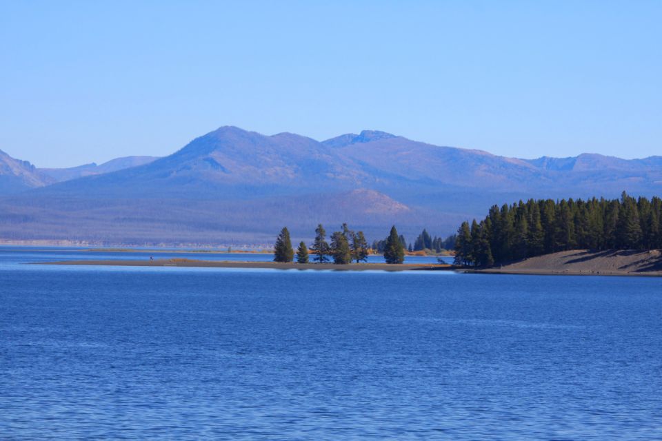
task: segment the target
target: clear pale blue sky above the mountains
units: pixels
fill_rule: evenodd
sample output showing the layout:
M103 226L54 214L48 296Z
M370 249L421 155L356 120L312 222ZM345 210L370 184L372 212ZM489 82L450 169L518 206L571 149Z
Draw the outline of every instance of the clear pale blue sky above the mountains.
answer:
M661 23L662 1L0 0L0 149L72 166L237 125L662 154Z

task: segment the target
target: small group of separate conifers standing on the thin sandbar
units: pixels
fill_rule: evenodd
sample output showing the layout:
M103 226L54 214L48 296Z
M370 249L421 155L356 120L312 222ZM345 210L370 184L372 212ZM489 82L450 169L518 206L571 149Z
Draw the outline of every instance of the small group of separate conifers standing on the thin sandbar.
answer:
M320 224L315 229L315 238L310 249L302 240L297 248L296 258L297 263L308 263L309 255L312 254L314 262L325 263L329 261L329 258L332 258L333 263L343 265L352 263L354 260L357 263L367 261L370 251L363 232L353 232L346 223L343 223L341 231L331 234L331 243L328 243L326 241L326 231ZM391 228L391 232L385 240L383 254L386 263L403 263L405 260L405 249L395 226ZM274 261L288 263L292 262L294 257L290 232L287 227L284 227L276 238Z

